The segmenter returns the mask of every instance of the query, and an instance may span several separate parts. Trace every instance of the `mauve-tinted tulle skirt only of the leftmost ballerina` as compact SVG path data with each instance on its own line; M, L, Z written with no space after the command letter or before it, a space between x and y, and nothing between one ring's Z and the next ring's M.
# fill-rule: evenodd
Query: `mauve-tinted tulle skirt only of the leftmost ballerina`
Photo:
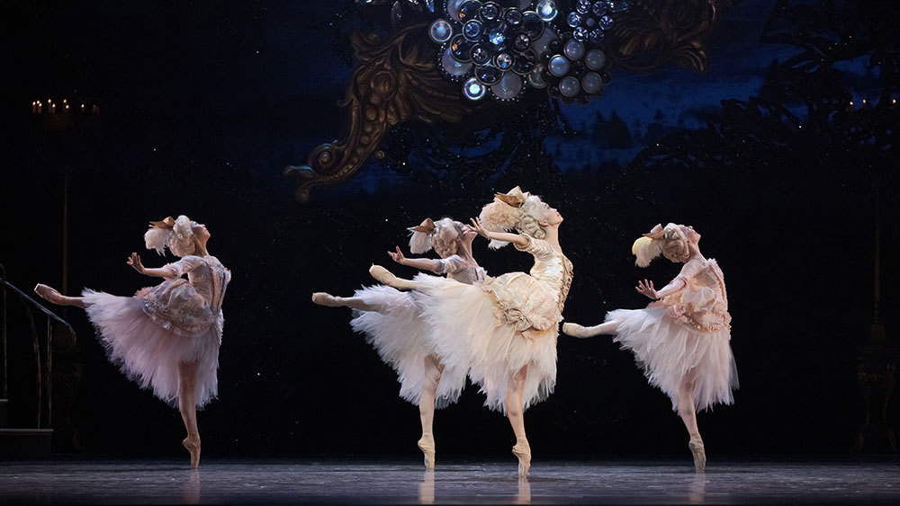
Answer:
M189 335L163 328L144 312L143 299L116 297L85 289L87 317L100 334L112 363L141 388L176 406L178 364L197 360L197 407L209 403L218 393L220 333L217 324Z

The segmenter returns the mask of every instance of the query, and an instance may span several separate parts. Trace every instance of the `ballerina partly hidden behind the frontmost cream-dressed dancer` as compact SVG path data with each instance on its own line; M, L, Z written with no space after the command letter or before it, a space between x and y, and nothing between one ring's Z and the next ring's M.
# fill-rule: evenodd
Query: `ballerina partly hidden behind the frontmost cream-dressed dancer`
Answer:
M426 219L410 228L410 251L426 253L434 248L440 260L407 258L400 247L388 252L394 262L422 271L444 274L446 278L419 274L422 283L478 283L484 270L472 255L472 242L478 235L469 226L445 217L437 222ZM397 371L400 396L419 406L422 437L419 448L425 455L425 466L435 466L433 424L435 408L453 404L465 386L466 369L446 367L444 360L428 341L428 324L410 293L386 286L356 290L353 297L334 297L325 292L312 294L312 302L321 306L353 308L350 325L365 333L384 362Z

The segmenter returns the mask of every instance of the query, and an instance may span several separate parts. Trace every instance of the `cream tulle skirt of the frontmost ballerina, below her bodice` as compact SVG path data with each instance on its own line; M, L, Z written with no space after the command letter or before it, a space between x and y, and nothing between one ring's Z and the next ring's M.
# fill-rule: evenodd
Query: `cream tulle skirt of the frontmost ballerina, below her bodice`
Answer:
M469 371L487 395L484 405L506 413L509 377L528 366L522 404L543 401L556 384L556 333L528 339L500 323L498 307L480 285L419 275L412 292L431 325L431 345L448 368Z

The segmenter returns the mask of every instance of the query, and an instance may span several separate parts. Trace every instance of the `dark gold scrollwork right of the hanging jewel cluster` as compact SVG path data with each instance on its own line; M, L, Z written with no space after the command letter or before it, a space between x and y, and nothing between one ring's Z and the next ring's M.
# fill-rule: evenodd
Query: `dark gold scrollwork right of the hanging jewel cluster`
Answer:
M709 59L703 37L716 21L721 0L635 0L617 14L607 47L617 65L646 71L672 61L706 70Z

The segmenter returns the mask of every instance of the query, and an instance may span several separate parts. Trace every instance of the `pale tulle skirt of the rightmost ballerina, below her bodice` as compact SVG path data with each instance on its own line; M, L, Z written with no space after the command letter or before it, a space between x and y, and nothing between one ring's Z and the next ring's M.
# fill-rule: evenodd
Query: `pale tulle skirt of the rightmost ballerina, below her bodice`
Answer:
M698 412L713 404L733 404L732 389L738 387L737 368L727 327L702 332L677 323L666 307L617 309L606 321L618 322L617 336L623 349L635 353L651 385L658 386L678 408L681 379L693 370L694 406Z

